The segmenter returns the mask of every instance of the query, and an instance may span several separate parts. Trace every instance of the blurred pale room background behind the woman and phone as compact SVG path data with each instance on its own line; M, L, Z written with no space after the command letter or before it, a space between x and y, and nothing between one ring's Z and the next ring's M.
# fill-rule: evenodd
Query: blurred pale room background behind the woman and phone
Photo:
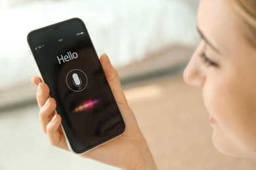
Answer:
M116 169L54 148L39 126L26 37L74 17L116 67L159 169L255 169L254 160L215 150L201 90L182 80L200 41L198 3L0 0L0 169Z

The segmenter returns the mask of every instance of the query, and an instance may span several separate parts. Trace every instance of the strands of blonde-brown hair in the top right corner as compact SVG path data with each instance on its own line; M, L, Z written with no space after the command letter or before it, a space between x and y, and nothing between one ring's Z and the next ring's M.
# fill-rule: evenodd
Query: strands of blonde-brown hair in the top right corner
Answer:
M229 0L234 12L242 18L245 24L245 36L256 48L256 1Z

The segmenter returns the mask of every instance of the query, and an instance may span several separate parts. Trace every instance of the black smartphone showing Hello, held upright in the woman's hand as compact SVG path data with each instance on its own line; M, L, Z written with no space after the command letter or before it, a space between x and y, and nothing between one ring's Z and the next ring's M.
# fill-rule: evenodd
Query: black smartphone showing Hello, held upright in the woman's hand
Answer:
M83 154L125 131L125 122L85 24L79 18L31 31L28 45L56 100L70 150Z

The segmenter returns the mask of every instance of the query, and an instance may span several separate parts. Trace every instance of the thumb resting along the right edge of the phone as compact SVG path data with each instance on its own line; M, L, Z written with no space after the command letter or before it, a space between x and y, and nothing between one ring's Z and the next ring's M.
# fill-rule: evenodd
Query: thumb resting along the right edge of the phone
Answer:
M102 68L104 70L106 78L108 79L110 88L112 89L112 92L114 93L114 96L116 97L117 103L127 104L127 100L126 100L123 90L121 88L121 83L120 83L117 71L111 65L110 59L108 58L108 56L106 54L102 54L102 56L100 56L100 63L102 65Z

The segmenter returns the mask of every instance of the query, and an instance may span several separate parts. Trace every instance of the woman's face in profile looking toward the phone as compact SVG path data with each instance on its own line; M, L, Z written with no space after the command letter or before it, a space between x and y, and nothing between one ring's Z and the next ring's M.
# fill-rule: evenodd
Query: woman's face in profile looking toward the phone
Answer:
M197 50L184 71L203 89L213 143L224 154L256 156L256 49L227 0L202 0Z

